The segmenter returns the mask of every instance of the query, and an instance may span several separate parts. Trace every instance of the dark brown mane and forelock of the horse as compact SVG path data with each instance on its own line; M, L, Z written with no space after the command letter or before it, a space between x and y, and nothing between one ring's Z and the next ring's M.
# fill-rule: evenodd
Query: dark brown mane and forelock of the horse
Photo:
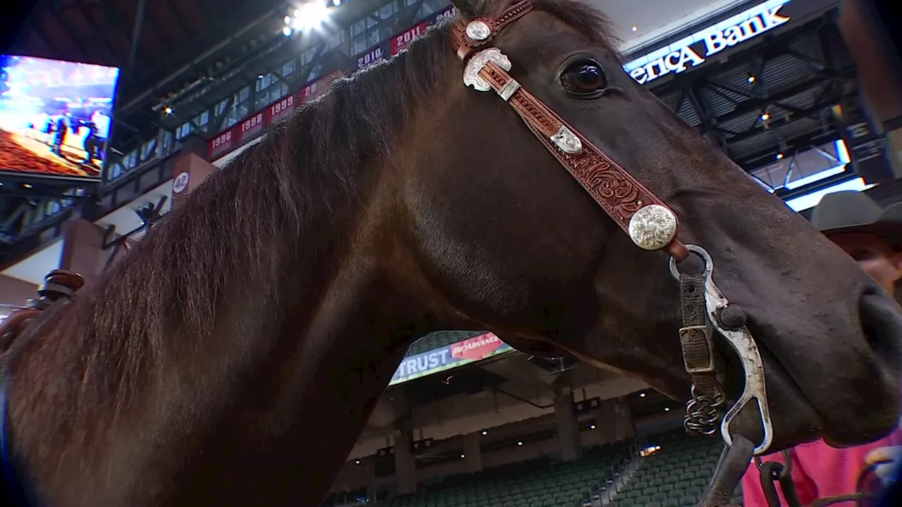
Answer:
M614 49L594 8L573 0L535 6ZM17 432L41 447L35 452L52 463L54 450L87 447L165 364L174 336L214 339L216 311L236 277L277 287L292 253L316 250L283 238L328 226L354 198L364 167L391 156L415 106L437 100L446 72L461 71L446 65L447 29L435 27L389 62L336 81L274 125L81 290L44 336L18 347L27 355L17 356L34 360L23 371L13 364L14 378L31 385L14 389L21 397L14 416L23 421Z

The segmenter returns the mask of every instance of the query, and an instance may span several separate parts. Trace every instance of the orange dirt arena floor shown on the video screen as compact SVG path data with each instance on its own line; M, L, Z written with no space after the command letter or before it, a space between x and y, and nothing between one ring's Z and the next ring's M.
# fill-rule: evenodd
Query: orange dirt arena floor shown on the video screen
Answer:
M77 136L69 135L67 142L63 144L62 153L65 158L61 158L51 152L50 146L38 139L0 130L0 171L59 176L99 176L99 169L78 163L85 159L87 153L69 145L73 141L80 141L80 138L72 139L73 137Z

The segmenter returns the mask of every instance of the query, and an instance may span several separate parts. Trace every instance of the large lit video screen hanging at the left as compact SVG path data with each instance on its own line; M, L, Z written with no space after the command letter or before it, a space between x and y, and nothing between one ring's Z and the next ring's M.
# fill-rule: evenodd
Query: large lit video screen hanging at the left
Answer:
M99 178L119 69L0 55L0 171Z

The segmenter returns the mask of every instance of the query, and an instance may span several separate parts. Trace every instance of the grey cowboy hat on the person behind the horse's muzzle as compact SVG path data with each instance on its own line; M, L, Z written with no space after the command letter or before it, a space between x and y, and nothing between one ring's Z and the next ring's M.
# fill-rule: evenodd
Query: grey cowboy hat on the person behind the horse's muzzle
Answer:
M883 208L859 191L833 192L812 210L811 224L824 235L870 233L902 248L902 202Z

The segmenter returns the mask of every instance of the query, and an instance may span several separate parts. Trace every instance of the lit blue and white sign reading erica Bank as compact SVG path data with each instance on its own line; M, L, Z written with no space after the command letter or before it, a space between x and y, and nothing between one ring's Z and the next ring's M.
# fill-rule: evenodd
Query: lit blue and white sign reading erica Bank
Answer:
M711 56L789 22L780 9L790 0L769 0L713 26L695 32L623 66L644 85L661 76L701 65Z

